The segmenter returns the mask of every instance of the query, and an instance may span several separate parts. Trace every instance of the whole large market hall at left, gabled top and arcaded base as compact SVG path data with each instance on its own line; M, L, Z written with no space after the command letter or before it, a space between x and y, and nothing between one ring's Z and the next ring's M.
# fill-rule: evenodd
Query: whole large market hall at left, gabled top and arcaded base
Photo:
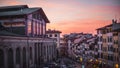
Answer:
M36 68L56 59L56 40L46 37L42 8L0 7L0 68Z

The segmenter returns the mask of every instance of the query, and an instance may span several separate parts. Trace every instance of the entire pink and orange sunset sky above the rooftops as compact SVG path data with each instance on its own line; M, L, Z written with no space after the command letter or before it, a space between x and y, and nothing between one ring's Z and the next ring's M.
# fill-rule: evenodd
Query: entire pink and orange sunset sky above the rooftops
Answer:
M0 6L42 7L51 23L47 29L96 33L96 29L120 21L120 0L0 0Z

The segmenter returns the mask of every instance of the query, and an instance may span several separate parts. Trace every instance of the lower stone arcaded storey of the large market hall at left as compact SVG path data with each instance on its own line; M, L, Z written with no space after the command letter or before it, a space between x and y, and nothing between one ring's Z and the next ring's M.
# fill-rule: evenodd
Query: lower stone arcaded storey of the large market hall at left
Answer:
M56 59L55 40L0 36L0 68L31 68Z

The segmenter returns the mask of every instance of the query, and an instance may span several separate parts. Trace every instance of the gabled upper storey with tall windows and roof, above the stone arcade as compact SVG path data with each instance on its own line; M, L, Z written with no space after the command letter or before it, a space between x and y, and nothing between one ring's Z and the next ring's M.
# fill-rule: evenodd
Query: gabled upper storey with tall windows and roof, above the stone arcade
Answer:
M0 24L7 31L32 37L46 34L49 23L42 8L29 8L27 5L0 7Z

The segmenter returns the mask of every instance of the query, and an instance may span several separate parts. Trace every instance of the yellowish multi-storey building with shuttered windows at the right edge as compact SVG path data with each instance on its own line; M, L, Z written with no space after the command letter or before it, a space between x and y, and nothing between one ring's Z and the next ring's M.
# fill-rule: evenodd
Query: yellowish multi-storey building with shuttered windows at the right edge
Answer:
M114 24L120 27L120 23L113 20L112 24L97 29L99 60L110 67L119 63L119 31L114 30Z

